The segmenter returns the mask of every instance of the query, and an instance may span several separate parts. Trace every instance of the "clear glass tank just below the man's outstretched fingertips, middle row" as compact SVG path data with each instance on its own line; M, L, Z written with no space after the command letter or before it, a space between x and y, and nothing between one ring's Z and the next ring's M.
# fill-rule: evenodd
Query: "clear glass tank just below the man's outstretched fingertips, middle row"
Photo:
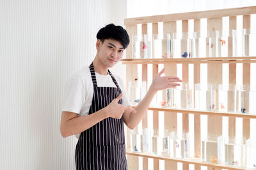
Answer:
M170 106L175 108L192 108L192 89L188 83L182 83L180 86L170 89Z

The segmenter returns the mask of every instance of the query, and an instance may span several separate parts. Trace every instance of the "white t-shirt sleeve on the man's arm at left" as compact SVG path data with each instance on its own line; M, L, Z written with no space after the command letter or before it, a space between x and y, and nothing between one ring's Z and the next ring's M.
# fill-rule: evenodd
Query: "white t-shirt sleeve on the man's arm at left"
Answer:
M80 78L70 78L64 90L61 111L70 111L79 114L84 103L84 86Z

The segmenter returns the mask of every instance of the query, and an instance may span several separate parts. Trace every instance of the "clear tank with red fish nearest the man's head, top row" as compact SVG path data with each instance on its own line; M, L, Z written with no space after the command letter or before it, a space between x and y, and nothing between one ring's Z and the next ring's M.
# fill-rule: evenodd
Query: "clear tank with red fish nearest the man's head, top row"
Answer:
M151 38L143 34L141 36L132 36L132 59L150 59L151 56Z

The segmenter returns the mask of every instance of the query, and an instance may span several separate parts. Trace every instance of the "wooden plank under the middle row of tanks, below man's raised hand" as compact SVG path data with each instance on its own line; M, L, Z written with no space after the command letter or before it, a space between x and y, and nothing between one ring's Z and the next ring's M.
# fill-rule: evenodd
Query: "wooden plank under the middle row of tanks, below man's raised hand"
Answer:
M135 108L136 106L132 106ZM247 113L235 113L235 112L223 112L223 111L207 111L207 110L195 110L195 109L180 109L180 108L159 108L159 107L149 107L148 110L153 111L170 111L172 113L193 113L198 115L215 115L220 117L241 117L241 118L256 118L256 114Z

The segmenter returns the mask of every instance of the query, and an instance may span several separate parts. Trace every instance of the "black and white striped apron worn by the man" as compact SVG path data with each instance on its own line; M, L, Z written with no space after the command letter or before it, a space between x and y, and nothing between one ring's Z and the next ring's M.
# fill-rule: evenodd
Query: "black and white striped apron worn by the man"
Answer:
M93 63L90 65L93 99L88 115L108 106L122 91L108 71L116 87L98 87ZM118 101L122 104L122 100ZM81 132L76 145L76 169L127 169L125 158L124 117L105 118Z

